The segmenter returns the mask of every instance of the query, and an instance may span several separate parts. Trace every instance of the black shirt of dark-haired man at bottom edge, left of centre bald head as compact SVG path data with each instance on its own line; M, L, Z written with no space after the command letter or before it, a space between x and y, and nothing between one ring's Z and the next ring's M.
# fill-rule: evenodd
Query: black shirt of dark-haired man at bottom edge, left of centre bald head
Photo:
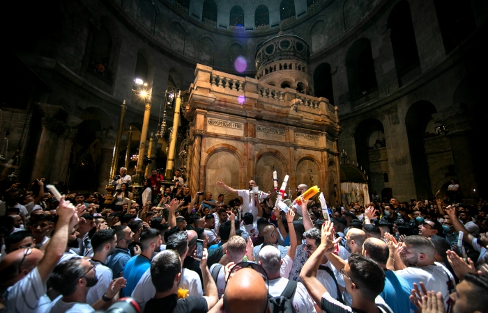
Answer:
M144 308L144 313L206 313L207 311L208 307L205 298L190 296L178 300L176 294L160 299L152 298L148 300Z

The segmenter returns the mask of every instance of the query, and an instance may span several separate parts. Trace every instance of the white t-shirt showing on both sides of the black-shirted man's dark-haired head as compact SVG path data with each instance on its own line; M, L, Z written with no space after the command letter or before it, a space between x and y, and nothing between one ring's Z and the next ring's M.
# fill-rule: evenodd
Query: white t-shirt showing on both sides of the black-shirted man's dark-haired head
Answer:
M195 271L191 271L188 268L183 268L178 287L188 289L188 296L204 296L204 291L201 288L200 276ZM156 288L151 280L151 268L148 268L146 273L142 275L137 283L134 291L132 291L132 298L139 303L141 312L144 312L146 303L148 300L151 300L155 294Z

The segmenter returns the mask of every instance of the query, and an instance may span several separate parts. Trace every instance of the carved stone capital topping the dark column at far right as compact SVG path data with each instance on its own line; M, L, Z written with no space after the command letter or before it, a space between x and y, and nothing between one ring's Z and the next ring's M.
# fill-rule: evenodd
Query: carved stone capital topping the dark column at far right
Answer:
M473 130L473 114L469 112L466 104L459 103L449 106L432 114L432 118L434 118L434 122L445 126L448 135Z

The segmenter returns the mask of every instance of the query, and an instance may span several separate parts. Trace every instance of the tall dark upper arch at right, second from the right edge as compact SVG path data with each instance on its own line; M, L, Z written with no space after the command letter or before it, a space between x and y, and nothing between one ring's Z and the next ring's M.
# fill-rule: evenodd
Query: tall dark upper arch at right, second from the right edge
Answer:
M391 30L391 45L398 84L402 86L421 72L410 6L406 0L395 5L388 17L387 26Z

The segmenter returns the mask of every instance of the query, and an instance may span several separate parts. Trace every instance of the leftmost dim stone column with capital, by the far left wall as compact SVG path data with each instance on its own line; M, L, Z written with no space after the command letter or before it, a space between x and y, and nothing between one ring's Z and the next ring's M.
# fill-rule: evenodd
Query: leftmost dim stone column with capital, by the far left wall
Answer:
M47 182L49 182L49 173L52 171L52 157L56 151L58 134L64 130L65 126L63 122L52 118L50 115L45 115L41 122L43 130L40 134L31 180L45 177Z

